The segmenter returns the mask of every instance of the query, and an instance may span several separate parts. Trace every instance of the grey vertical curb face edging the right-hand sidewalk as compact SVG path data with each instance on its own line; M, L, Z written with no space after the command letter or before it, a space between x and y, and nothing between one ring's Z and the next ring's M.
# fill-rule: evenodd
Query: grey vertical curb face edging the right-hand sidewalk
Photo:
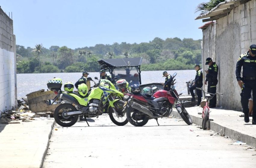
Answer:
M173 109L172 115L177 117L177 118L181 118L180 114ZM193 121L194 124L196 125L202 125L203 119L200 117L196 117L196 116L192 116L189 115ZM231 139L237 140L237 141L241 141L241 142L245 142L247 145L250 145L254 148L256 148L256 138L249 136L247 134L243 134L241 132L238 132L236 130L227 128L223 125L219 125L217 123L215 123L214 121L208 121L208 128L210 128L212 131L218 132L219 134L223 134L225 136L228 136Z

